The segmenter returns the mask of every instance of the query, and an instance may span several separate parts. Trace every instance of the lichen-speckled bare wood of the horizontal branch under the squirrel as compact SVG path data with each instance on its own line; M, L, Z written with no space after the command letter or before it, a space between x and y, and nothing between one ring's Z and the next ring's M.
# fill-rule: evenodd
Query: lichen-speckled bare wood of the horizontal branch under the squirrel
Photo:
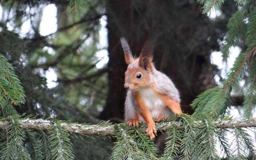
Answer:
M8 121L0 120L0 130L7 130L9 128ZM256 119L252 120L243 120L243 121L216 121L214 122L217 128L248 128L248 127L256 127ZM41 129L41 130L50 130L54 128L54 122L51 120L44 119L24 119L20 120L20 124L23 128L26 129ZM114 134L115 126L122 124L112 124L112 125L89 125L89 124L70 124L63 122L61 125L64 129L70 133L79 133L79 134L92 134L92 135L105 135L112 136ZM184 129L184 126L181 122L173 121L173 122L161 122L156 123L156 130L164 131L170 126L177 126L179 129ZM196 122L196 125L199 126L200 123ZM142 130L146 131L146 127L143 127Z

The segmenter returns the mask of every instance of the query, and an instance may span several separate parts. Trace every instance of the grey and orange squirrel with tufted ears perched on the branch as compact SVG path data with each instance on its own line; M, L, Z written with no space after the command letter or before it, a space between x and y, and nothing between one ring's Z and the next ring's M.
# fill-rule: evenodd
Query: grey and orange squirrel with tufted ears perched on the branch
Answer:
M168 76L154 67L154 47L151 42L147 41L140 56L134 58L127 40L120 38L120 41L128 64L124 78L124 88L128 90L124 105L125 122L129 126L146 122L146 133L150 139L154 139L155 122L168 118L171 112L182 113L178 89Z

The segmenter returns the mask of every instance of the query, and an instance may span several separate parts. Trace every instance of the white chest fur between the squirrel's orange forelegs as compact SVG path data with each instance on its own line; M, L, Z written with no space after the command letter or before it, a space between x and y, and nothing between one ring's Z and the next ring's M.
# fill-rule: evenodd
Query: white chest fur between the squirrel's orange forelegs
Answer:
M139 92L150 112L155 112L155 110L160 111L166 107L162 99L159 98L151 88L141 89Z

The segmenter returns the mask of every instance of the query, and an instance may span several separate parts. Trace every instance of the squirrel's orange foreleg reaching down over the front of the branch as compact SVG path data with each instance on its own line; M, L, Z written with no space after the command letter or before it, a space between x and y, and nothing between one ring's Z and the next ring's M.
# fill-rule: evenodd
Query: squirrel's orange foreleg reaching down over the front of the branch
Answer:
M146 133L150 136L150 139L154 139L155 138L154 134L156 134L156 126L155 126L155 122L151 117L150 110L148 110L148 107L146 106L145 101L140 96L140 93L138 91L135 92L135 99L138 103L138 107L140 108L140 115L145 120L148 126Z

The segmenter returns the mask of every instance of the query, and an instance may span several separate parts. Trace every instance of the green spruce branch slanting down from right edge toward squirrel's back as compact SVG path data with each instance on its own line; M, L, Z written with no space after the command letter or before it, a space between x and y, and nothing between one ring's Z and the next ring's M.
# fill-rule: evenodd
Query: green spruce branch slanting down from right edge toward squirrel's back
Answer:
M216 86L206 90L194 99L191 104L192 108L195 109L194 114L222 114L226 108L230 89L234 84L238 84L241 79L240 75L242 71L246 69L246 62L248 62L248 59L253 57L255 53L256 47L250 45L245 53L240 54L236 58L234 66L230 69L228 77L223 82L223 86Z

